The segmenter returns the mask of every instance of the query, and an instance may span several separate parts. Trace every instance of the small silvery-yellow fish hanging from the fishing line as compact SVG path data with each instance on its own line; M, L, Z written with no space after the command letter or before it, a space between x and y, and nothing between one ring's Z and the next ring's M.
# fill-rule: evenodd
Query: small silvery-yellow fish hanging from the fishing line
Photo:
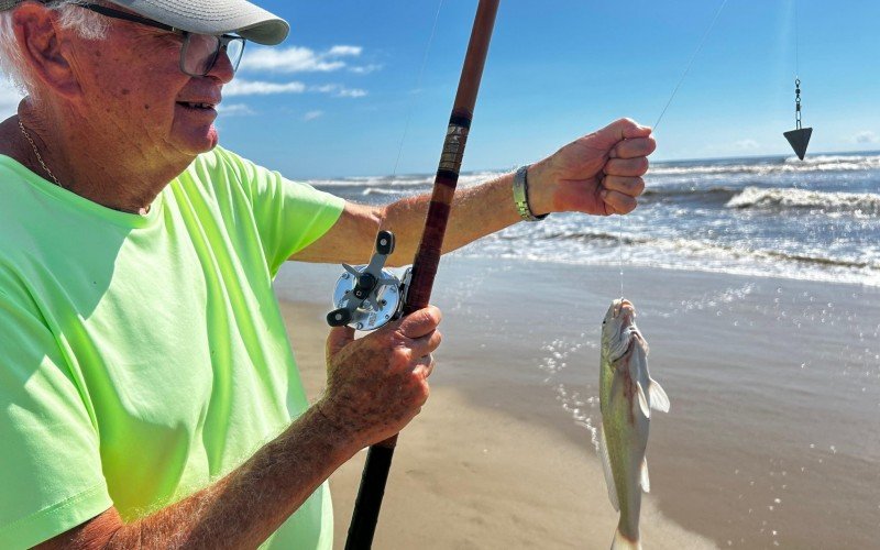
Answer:
M648 342L636 327L636 308L616 299L602 321L600 457L608 498L620 513L612 550L640 549L641 492L650 492L648 428L651 409L669 413L669 397L648 374Z

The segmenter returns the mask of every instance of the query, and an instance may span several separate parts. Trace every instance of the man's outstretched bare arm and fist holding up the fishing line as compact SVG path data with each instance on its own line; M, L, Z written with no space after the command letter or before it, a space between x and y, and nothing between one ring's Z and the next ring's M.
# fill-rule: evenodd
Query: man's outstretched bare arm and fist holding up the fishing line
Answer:
M585 135L528 172L529 204L536 215L580 211L608 216L628 213L645 189L641 176L654 150L649 128L622 119ZM513 199L513 174L458 189L452 202L443 252L451 252L521 220ZM385 207L349 202L324 237L290 260L365 263L376 232L395 233L391 265L411 263L421 238L430 195L405 198Z

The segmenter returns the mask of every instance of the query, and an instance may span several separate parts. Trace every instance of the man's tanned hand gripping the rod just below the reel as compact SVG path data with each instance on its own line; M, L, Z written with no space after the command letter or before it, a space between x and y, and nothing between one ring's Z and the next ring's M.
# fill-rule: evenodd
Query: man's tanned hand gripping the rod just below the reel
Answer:
M429 306L360 340L349 327L331 329L319 410L364 447L399 432L428 399L440 319Z

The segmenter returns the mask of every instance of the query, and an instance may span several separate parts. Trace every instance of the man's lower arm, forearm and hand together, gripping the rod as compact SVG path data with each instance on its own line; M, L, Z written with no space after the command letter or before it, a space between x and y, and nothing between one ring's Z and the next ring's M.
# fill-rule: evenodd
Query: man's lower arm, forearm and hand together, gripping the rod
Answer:
M328 339L324 396L222 480L131 524L116 508L40 549L256 548L355 452L399 432L428 398L440 311Z

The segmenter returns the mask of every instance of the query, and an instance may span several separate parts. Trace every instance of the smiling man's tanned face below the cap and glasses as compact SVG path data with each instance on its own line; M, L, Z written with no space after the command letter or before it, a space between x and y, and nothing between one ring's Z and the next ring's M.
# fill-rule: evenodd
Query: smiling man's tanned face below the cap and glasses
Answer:
M96 130L150 162L193 157L218 142L216 107L232 67L221 54L208 75L184 74L183 41L179 34L125 21L112 21L103 41L69 41L82 91L78 108Z

